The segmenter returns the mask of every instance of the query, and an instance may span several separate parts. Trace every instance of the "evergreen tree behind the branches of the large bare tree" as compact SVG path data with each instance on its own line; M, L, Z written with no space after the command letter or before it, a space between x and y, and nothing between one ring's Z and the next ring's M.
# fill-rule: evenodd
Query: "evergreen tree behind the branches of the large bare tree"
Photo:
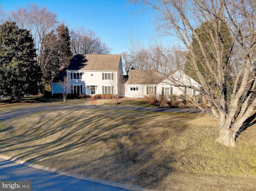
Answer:
M206 55L203 55L202 51L200 50L200 45L198 43L198 40L196 37L192 36L192 49L193 53L196 54L196 63L197 67L206 79L206 83L212 87L212 89L216 89L215 96L219 96L220 92L218 92L217 88L217 83L215 80L214 75L212 74L212 71L215 70L218 66L217 63L218 61L216 60L216 47L211 42L211 37L218 37L222 39L222 44L223 44L223 54L222 54L222 67L225 68L224 71L224 79L225 83L227 84L224 91L226 98L230 98L230 91L232 89L232 65L230 64L230 53L232 52L233 49L233 39L230 35L230 31L227 27L227 25L222 22L220 25L219 30L209 30L212 29L213 26L209 22L205 22L202 24L199 28L196 29L196 33L198 33L198 36L200 38L200 41L203 42L204 48L206 49ZM194 80L197 82L200 82L198 79L198 76L196 75L195 68L190 64L190 61L192 59L191 52L188 52L188 62L185 64L185 72L188 74L190 77L192 77ZM211 63L211 67L208 67L204 60L208 59L208 61Z

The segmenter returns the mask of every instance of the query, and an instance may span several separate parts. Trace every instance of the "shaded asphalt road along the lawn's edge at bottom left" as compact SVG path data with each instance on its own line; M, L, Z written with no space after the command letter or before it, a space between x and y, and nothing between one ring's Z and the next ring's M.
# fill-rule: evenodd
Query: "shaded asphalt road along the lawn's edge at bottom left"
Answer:
M0 157L0 180L31 181L32 191L150 191L64 171L58 172L50 168L42 170L19 163L20 161L12 162Z

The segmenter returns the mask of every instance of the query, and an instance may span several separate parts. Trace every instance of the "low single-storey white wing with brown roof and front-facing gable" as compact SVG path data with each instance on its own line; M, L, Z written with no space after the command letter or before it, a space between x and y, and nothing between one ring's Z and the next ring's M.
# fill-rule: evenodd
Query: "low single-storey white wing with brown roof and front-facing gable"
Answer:
M175 71L168 78L159 76L152 70L130 70L129 79L125 85L125 96L145 97L156 95L159 99L161 95L167 98L170 95L188 96L198 95L200 84L181 71Z

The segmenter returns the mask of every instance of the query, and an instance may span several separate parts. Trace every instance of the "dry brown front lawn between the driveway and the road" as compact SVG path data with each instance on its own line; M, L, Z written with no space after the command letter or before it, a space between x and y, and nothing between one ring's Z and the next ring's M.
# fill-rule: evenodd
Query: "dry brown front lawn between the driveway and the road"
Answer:
M214 142L216 126L198 114L39 112L0 122L0 153L154 190L255 190L255 130L229 149Z

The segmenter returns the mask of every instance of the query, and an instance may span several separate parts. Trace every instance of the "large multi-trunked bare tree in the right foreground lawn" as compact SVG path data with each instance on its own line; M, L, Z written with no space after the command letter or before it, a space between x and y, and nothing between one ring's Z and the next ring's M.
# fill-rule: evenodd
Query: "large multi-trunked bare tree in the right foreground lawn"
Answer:
M177 37L189 51L188 62L202 86L201 94L208 100L212 116L219 122L219 136L216 142L229 147L236 146L236 136L241 128L250 125L256 107L255 0L130 2L140 5L141 10L151 9L156 13L159 32L162 35ZM233 39L233 46L228 53L224 44L226 34L221 32L223 23ZM202 38L198 33L199 27L203 27L207 44L206 37ZM199 49L193 48L193 38L196 39ZM200 51L202 56L198 57L196 51ZM202 73L198 62L206 73ZM227 83L225 78L230 73L233 74L232 84ZM229 100L227 89L230 89L231 93Z

